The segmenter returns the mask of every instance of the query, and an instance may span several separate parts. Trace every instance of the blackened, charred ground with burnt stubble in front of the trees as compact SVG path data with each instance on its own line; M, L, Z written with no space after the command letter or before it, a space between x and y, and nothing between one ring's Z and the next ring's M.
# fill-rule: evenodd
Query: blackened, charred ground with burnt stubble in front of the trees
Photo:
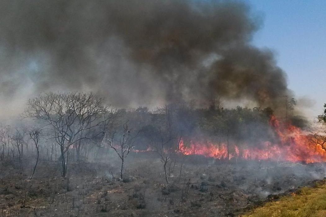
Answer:
M127 157L123 181L110 161L70 163L68 177L61 178L57 162L41 160L33 180L28 180L32 163L23 164L22 172L19 162L2 162L0 216L238 216L325 176L320 163L189 156L181 180L179 165L172 164L166 185L162 163L145 155Z

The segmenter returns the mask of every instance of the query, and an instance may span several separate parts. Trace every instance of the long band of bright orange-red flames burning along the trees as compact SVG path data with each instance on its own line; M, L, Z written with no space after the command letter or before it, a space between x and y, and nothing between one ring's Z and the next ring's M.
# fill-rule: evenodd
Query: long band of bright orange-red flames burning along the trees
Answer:
M185 145L181 140L179 151L184 155L203 155L217 159L229 159L236 157L242 159L258 160L285 160L293 162L324 162L326 152L321 145L312 141L311 135L291 124L281 124L275 116L270 119L278 142L262 142L258 147L250 147L248 144L213 143L210 141L190 141Z

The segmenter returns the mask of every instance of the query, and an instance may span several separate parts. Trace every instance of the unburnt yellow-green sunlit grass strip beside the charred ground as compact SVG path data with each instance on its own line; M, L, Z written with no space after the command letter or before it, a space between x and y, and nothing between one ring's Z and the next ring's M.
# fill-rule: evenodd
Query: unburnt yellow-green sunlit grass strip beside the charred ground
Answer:
M243 215L246 217L326 216L326 184L303 187L275 202L268 202Z

